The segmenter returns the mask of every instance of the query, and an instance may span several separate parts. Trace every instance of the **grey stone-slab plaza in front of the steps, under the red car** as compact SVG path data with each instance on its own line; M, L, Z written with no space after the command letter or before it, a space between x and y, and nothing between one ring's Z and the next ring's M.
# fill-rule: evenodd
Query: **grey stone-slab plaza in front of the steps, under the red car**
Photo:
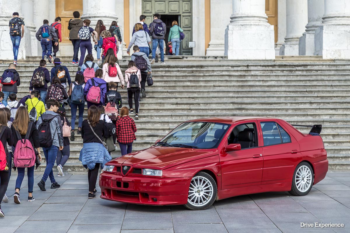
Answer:
M350 232L350 173L328 172L307 196L269 192L238 196L215 202L208 210L191 211L183 206L142 206L87 198L87 174L57 177L61 188L42 192L27 201L23 180L21 204L13 202L16 172L7 191L9 203L1 207L3 233L121 232L121 233L294 233ZM97 187L100 195L100 189ZM344 228L301 228L300 223L339 223Z

